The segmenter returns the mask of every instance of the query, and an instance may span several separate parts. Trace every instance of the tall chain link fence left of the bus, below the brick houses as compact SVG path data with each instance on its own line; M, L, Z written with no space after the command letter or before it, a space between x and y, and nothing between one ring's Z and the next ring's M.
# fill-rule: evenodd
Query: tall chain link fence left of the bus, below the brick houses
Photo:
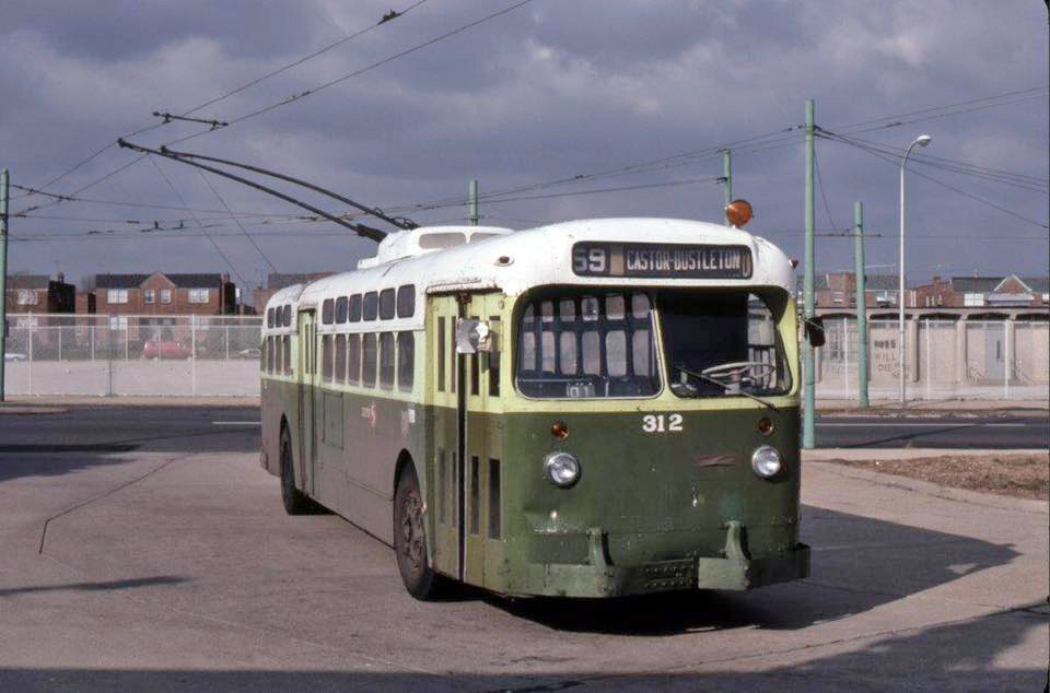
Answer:
M257 396L258 316L9 315L9 395Z

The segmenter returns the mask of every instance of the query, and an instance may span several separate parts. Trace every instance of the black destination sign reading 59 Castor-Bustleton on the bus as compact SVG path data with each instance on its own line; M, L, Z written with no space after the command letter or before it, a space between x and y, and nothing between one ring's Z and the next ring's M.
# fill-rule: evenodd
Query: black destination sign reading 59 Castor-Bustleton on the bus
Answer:
M572 246L578 277L648 279L750 279L747 246L677 243L593 243Z

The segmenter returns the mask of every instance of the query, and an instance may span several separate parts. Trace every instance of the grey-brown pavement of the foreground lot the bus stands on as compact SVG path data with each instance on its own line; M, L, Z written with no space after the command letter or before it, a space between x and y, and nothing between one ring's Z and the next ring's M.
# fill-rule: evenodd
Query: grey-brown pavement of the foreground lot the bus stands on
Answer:
M254 454L0 453L0 691L1042 690L1045 504L819 462L802 502L804 580L418 602Z

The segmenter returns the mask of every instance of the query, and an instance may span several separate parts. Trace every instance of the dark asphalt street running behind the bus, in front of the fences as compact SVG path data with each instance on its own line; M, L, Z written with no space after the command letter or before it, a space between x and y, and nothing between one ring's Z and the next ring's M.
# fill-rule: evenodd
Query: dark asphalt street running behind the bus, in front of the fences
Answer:
M250 453L254 407L73 406L0 415L0 453ZM818 416L817 447L1046 448L1046 418Z

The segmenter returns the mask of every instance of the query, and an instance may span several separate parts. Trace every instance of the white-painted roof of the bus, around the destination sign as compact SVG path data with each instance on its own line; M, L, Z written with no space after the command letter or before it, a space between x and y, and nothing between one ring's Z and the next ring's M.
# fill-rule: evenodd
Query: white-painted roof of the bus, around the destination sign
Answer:
M457 233L463 234L463 240L453 247L427 243L428 236L440 234L444 242ZM471 238L471 233L478 237ZM572 248L580 242L745 246L750 250L752 268L747 279L580 277L572 268ZM681 219L588 219L513 233L499 227L429 226L390 234L383 243L396 250L390 252L395 259L383 261L381 248L376 258L362 260L358 270L318 279L305 286L289 286L275 294L267 305L300 303L319 307L328 297L406 284L415 285L419 297L476 290L516 295L545 284L779 286L792 291L791 262L777 246L735 227Z

